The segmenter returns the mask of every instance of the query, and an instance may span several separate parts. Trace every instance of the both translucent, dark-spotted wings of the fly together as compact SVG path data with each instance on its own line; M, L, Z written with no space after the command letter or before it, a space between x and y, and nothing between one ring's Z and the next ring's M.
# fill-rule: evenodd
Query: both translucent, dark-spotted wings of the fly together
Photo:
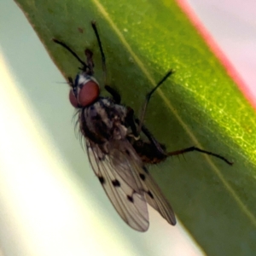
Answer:
M154 179L127 140L108 142L108 154L88 140L90 164L116 211L131 228L148 230L147 203L175 225L175 214Z

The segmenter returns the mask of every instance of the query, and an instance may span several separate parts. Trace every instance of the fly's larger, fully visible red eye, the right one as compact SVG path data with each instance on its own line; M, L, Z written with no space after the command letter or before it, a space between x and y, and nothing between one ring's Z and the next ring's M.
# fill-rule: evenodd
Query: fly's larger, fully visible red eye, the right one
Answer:
M79 91L78 103L81 107L86 107L95 102L100 95L99 85L95 81L88 81ZM71 102L72 103L72 102ZM72 103L73 104L73 103Z

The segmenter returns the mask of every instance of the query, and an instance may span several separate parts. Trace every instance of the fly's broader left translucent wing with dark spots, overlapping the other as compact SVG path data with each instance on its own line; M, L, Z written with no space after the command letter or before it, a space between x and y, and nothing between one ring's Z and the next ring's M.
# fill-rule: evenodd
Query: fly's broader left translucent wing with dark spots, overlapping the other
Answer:
M108 143L108 154L104 154L96 143L86 140L90 164L120 217L131 228L146 231L149 225L148 207L143 185L137 177L140 166L119 150L121 142ZM130 143L123 148L133 150Z

